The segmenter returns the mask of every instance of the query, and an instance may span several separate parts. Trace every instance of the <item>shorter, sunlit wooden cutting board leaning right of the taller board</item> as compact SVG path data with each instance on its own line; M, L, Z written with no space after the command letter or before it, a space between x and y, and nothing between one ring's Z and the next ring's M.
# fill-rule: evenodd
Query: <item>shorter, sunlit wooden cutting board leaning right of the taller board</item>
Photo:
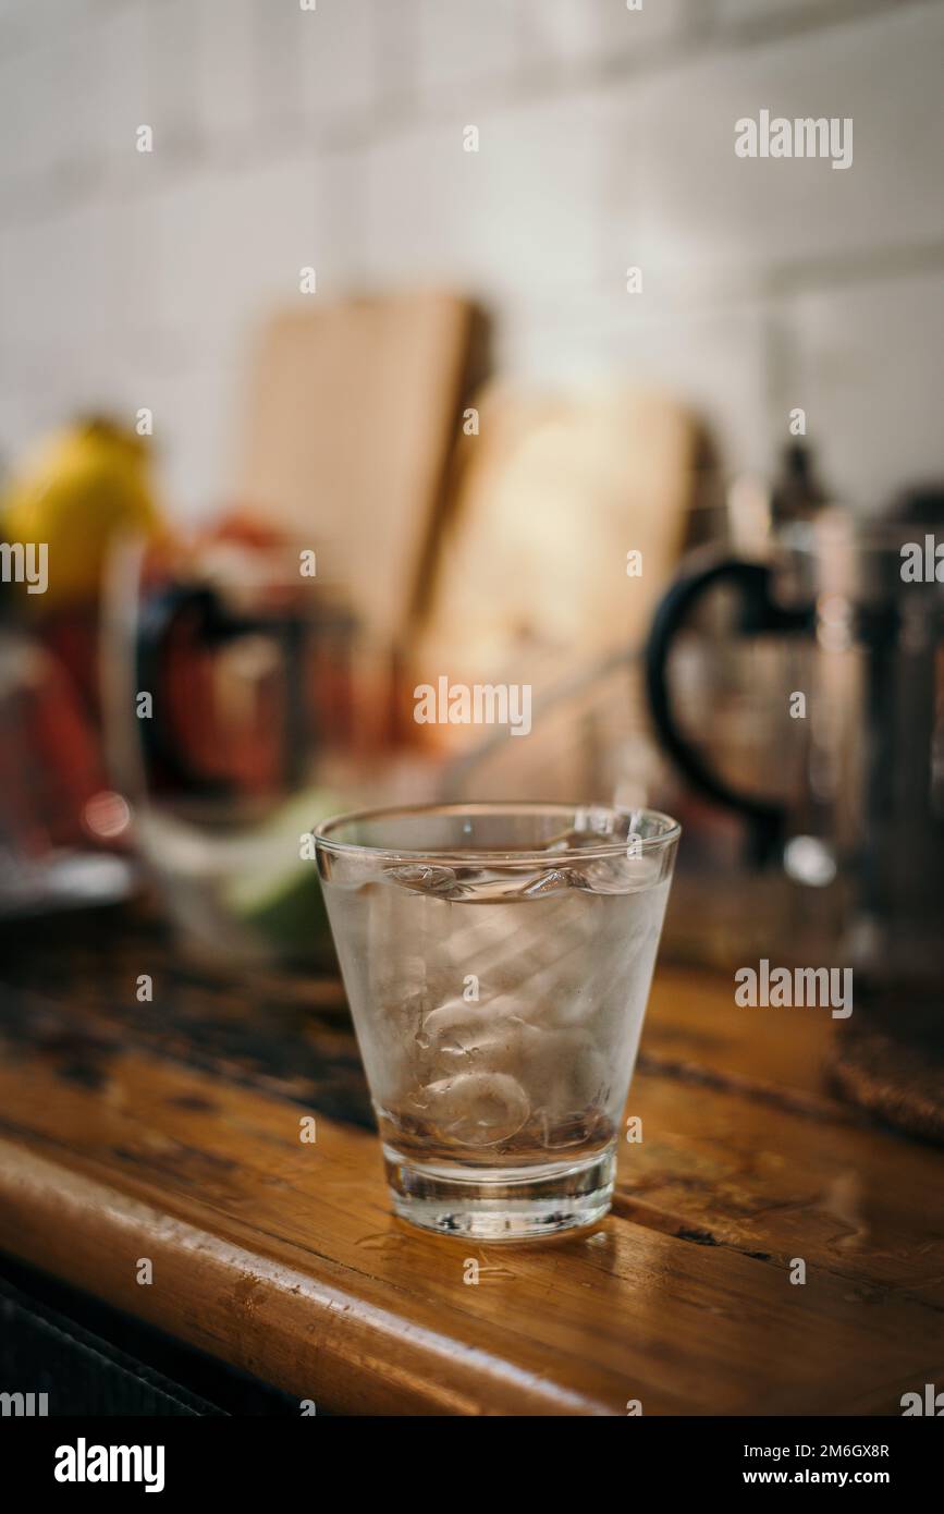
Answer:
M549 398L496 386L480 413L480 435L461 441L418 680L540 683L641 643L684 540L694 419L622 388Z

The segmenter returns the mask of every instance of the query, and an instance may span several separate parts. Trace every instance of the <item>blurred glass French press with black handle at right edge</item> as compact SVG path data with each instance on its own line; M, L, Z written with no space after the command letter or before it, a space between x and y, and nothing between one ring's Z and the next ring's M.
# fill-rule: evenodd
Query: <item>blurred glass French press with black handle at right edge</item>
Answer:
M765 560L713 551L661 600L646 666L679 774L746 821L756 860L797 884L849 878L840 952L897 993L944 977L944 583L933 562L918 581L905 568L924 539L914 519L856 522L828 507L788 521ZM722 772L703 731L679 718L670 662L714 589L734 597L738 636L782 650L765 662L755 725L761 783L790 769L787 792L762 792L756 763L750 784Z

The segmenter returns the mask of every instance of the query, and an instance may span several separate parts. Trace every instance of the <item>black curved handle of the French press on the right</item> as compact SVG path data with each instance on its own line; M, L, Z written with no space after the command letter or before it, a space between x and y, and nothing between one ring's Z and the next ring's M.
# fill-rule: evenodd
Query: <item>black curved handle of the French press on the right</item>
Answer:
M675 637L682 630L694 604L708 589L729 583L740 593L738 630L744 636L797 634L809 631L812 609L784 609L772 598L772 569L767 563L722 557L682 574L663 597L652 621L646 645L646 693L658 737L679 772L705 798L744 816L750 825L752 851L756 861L767 861L784 842L787 812L775 799L759 799L738 793L713 768L703 754L682 734L675 719L666 671Z

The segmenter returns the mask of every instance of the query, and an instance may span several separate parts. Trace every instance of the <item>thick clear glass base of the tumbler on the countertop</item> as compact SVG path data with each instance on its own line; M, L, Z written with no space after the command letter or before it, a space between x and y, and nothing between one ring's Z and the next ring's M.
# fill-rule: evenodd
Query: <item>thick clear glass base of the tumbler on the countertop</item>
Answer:
M522 1241L596 1225L610 1208L616 1142L581 1161L455 1169L384 1145L393 1208L440 1235Z

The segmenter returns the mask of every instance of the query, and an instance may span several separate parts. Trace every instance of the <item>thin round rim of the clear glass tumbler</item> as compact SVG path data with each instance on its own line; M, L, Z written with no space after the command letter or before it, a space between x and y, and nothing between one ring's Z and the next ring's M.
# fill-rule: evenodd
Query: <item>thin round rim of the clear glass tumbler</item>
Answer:
M342 842L334 840L330 831L340 825L356 824L359 821L380 821L393 819L396 816L407 815L457 815L457 816L475 816L475 815L495 815L495 813L517 813L517 815L546 815L560 812L561 816L570 815L578 816L587 812L605 812L608 816L625 816L628 819L638 818L647 821L658 821L664 825L664 830L658 836L638 836L631 831L629 836L620 840L601 840L599 845L590 846L564 846L558 851L549 852L545 849L525 849L525 848L499 848L499 846L371 846L366 842ZM318 825L312 828L310 833L315 837L316 849L331 852L333 855L348 855L348 857L383 857L392 861L428 861L428 863L478 863L483 861L492 864L514 866L517 863L536 863L543 861L551 866L558 866L561 861L592 861L602 857L625 857L626 848L631 843L631 837L635 837L632 845L634 849L638 848L643 852L661 851L670 846L682 834L682 827L670 815L663 810L649 810L643 805L631 808L623 804L563 804L560 801L540 799L470 799L463 801L443 801L443 802L428 802L428 804L390 804L380 805L369 810L349 810L343 815L331 815Z

